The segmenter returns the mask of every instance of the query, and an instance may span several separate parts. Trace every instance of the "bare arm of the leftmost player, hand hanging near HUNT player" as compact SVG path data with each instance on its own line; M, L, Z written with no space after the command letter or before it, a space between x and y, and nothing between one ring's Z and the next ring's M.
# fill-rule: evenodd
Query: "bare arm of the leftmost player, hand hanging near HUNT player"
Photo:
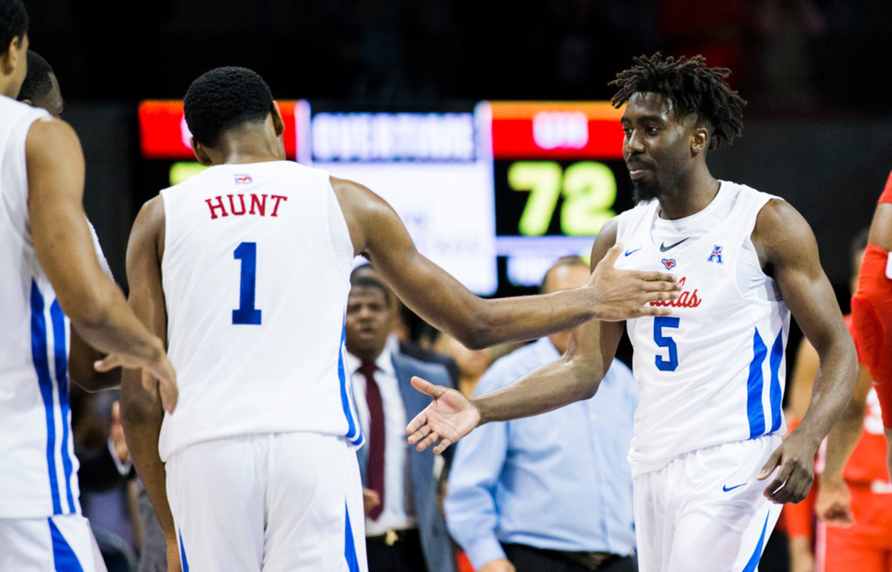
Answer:
M26 156L34 249L59 306L84 341L111 354L97 369L145 368L161 380L172 411L176 376L161 340L136 319L96 258L81 204L84 157L78 135L60 119L37 120L29 129Z

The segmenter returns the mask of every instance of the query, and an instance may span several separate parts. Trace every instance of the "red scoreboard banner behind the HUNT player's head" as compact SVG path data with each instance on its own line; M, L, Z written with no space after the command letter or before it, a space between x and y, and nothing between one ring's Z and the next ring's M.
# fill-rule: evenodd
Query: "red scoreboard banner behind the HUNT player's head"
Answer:
M285 128L294 128L297 102L278 102ZM189 127L183 115L183 102L177 100L145 101L139 104L139 150L145 159L195 160L189 145ZM285 136L285 153L296 157L297 139Z

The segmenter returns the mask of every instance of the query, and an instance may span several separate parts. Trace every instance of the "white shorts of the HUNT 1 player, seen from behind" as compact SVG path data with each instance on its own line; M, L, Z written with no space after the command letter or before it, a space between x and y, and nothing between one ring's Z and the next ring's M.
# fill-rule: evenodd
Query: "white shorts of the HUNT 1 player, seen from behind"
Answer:
M341 437L266 433L167 462L183 571L366 572L362 485Z

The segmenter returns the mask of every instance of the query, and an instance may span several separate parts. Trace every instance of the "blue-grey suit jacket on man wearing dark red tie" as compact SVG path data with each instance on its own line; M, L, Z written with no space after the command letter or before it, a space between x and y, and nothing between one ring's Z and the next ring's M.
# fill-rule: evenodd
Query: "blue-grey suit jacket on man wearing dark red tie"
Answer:
M392 354L393 370L400 384L402 404L406 408L406 421L410 421L431 402L431 398L412 387L413 375L424 378L435 385L450 387L450 375L441 364L425 364L413 357ZM362 474L362 486L366 486L368 464L368 446L359 449L359 470ZM429 572L455 572L455 557L452 542L446 530L446 522L437 502L437 483L434 479L433 447L418 453L414 447L406 452L409 462L409 474L412 478L412 492L415 500L415 517L418 533L421 536L421 548L425 553L425 562Z

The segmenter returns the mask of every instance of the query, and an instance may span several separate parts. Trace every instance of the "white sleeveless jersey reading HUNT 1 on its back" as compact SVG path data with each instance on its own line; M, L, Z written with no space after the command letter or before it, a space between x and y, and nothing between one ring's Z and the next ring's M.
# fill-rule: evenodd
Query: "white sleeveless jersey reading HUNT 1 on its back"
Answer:
M177 411L159 450L220 437L361 435L343 366L353 245L324 171L208 168L161 192Z

